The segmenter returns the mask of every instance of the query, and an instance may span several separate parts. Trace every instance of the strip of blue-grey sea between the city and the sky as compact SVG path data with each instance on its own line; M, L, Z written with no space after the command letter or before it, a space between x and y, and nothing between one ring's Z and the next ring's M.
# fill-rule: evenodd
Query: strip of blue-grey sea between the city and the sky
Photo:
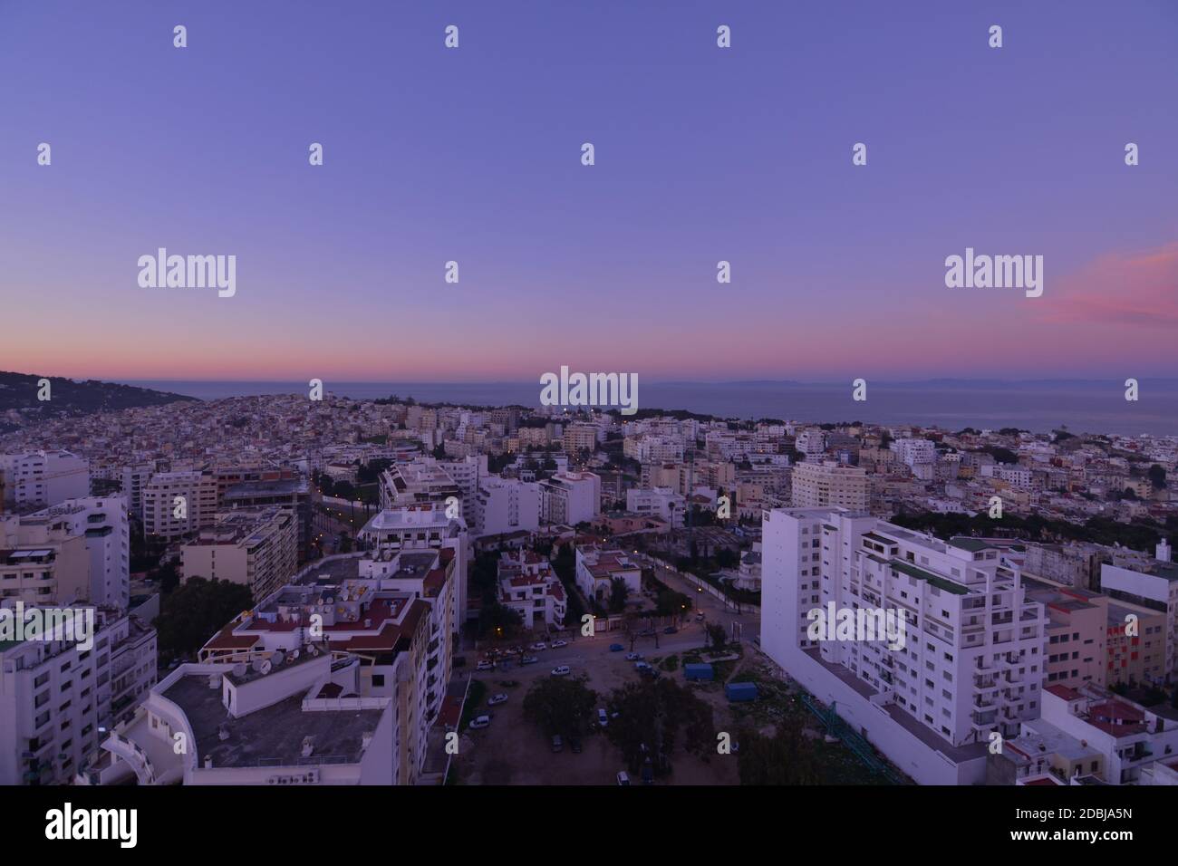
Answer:
M200 399L306 394L302 382L120 379L121 384ZM1125 399L1124 381L931 379L867 383L867 399L852 399L851 383L655 382L638 388L640 409L686 409L736 418L783 418L803 423L862 421L960 430L1014 427L1050 432L1178 435L1178 379L1139 379L1140 397ZM537 383L331 382L337 397L376 399L396 395L423 403L540 406Z

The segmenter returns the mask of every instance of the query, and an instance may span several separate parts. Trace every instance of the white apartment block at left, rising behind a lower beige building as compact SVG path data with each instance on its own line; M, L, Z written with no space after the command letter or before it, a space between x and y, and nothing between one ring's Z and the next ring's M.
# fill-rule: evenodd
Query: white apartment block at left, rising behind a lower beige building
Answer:
M120 496L87 496L44 509L21 520L25 527L64 527L86 540L90 553L91 604L126 610L131 604L131 523L126 500ZM4 584L0 581L0 589Z

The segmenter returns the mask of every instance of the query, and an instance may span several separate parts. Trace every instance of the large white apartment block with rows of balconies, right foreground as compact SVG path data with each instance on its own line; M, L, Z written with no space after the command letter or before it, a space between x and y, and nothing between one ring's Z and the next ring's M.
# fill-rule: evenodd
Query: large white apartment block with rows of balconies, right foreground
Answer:
M1040 712L1047 617L998 549L843 509L765 514L761 646L921 784L985 775L993 732ZM815 610L892 612L905 639L809 639Z

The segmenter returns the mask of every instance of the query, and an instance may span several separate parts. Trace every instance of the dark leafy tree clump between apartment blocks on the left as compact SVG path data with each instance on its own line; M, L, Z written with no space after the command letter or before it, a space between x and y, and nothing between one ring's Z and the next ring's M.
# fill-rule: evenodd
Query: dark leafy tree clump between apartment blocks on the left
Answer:
M194 654L243 610L253 606L250 588L230 581L188 577L164 596L155 617L161 657Z

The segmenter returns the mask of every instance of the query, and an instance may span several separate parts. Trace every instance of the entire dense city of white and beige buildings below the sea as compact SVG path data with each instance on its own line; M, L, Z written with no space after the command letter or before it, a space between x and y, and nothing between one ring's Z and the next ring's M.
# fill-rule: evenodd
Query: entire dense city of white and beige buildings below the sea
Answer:
M313 390L8 410L0 784L1178 781L1178 436Z

